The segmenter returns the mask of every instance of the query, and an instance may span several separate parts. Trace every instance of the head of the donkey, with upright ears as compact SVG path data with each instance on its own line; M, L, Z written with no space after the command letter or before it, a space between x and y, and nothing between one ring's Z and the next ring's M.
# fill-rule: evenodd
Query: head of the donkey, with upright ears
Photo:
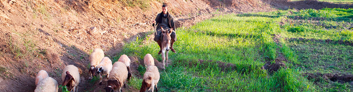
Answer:
M170 28L170 30L164 30L162 27L162 33L163 33L163 38L162 38L162 48L166 48L167 51L169 51L170 47L170 40L172 40L172 37L170 37L170 34L173 32L173 27Z

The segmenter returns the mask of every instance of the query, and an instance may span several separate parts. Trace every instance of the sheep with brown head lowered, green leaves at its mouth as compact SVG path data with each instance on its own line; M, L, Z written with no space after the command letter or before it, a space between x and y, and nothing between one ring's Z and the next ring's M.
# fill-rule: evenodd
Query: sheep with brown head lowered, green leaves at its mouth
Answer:
M80 73L78 72L78 68L76 66L65 66L65 68L62 69L61 79L62 85L65 85L68 91L78 91L77 86L80 83Z

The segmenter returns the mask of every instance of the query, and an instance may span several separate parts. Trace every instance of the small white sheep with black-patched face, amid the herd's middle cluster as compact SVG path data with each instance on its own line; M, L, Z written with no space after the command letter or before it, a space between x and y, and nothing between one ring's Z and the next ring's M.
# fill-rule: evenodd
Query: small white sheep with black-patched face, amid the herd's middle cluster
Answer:
M113 64L112 60L108 57L104 57L96 67L97 73L99 74L99 85L102 85L103 75L107 75L107 79L109 78L109 72L112 70Z

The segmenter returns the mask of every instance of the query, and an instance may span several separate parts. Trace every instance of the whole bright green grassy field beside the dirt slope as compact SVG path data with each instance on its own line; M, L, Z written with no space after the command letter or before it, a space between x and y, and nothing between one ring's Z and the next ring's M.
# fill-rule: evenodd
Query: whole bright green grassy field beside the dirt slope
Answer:
M177 54L169 53L173 62L160 70L158 83L162 92L350 92L352 84L308 80L303 73L353 73L353 47L315 41L293 41L289 38L353 41L353 9L277 10L250 14L228 14L199 22L190 28L178 28ZM302 17L295 19L295 16ZM323 17L313 19L312 17ZM149 34L152 34L149 33ZM280 35L277 44L272 34ZM148 36L127 43L120 55L138 59L150 53L157 55L158 45ZM287 68L272 74L261 69L274 63L279 54L288 61ZM199 59L212 60L200 63ZM217 61L232 63L222 68ZM143 75L145 69L139 66ZM142 79L128 83L139 90Z

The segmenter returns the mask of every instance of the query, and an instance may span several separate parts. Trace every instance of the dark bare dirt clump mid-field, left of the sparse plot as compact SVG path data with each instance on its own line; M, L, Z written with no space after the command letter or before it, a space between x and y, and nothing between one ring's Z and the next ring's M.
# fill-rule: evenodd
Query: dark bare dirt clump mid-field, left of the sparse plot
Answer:
M262 69L267 70L270 74L276 72L282 68L287 68L286 64L282 61L288 62L288 60L283 56L283 54L279 54L275 59L275 63L271 64L270 61L267 61L265 65L263 65Z

